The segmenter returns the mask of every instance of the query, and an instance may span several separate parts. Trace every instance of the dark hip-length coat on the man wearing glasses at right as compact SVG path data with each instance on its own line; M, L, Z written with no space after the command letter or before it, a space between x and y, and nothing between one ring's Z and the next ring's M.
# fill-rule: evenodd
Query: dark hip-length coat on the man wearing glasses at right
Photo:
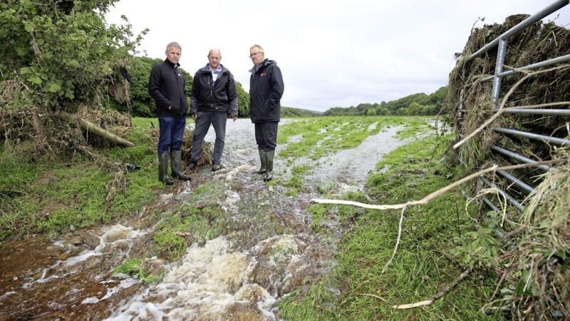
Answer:
M279 121L281 113L281 96L284 84L281 69L275 61L265 59L261 67L250 70L249 77L249 117L252 123Z

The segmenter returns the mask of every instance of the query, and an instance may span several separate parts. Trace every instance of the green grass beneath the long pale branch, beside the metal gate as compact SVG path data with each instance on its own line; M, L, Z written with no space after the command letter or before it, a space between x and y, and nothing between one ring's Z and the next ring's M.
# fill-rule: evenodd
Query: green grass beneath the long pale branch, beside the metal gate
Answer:
M409 143L385 156L369 175L366 193L373 203L403 203L423 198L462 173L442 161L446 138ZM343 198L362 198L344 195ZM362 201L362 200L361 200ZM371 201L363 201L371 203ZM353 228L338 245L338 267L309 289L299 289L280 304L286 320L502 320L480 308L490 300L497 278L473 272L432 305L395 310L390 305L413 303L435 295L465 269L451 254L457 237L472 231L465 198L457 190L432 203L408 208L395 259L400 210L354 210L338 205L312 205L314 231L328 220L351 220ZM467 209L476 215L477 208ZM342 217L340 215L343 215ZM386 300L380 300L376 295Z

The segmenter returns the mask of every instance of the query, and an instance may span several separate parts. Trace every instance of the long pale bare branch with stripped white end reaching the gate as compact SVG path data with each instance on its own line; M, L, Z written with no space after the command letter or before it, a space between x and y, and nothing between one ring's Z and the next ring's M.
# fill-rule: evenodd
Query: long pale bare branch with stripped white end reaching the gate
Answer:
M443 194L447 193L447 191L452 190L453 188L456 188L457 186L462 185L463 183L467 183L468 181L472 180L473 178L477 178L480 175L484 175L484 174L487 174L490 172L496 172L497 170L514 170L514 169L527 168L527 167L532 167L532 166L537 166L537 165L549 165L549 164L554 164L554 163L563 163L566 161L570 161L570 158L558 158L558 159L553 159L550 161L539 161L539 162L532 162L532 163L525 163L525 164L518 164L518 165L509 165L509 166L502 166L502 167L499 167L498 165L492 165L489 168L485 168L484 170L480 170L477 173L473 173L471 175L465 176L465 178L457 180L455 183L451 183L450 185L447 185L443 188L440 188L439 190L436 190L435 192L431 193L430 195L427 195L425 198L422 198L421 200L412 200L412 201L409 201L409 202L403 203L403 204L371 205L371 204L366 204L366 203L355 202L353 200L327 200L327 199L321 199L321 198L313 198L312 201L315 203L322 203L322 204L354 205L354 206L358 206L360 208L370 208L372 210L395 210L395 209L404 208L405 206L408 206L408 205L427 204L430 202L430 200L437 198L437 196L443 195Z

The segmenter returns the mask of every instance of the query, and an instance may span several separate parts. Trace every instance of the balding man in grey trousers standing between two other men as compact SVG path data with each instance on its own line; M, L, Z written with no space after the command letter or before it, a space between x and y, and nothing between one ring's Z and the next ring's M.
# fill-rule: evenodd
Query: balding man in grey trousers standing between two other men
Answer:
M237 93L234 76L220 61L222 54L218 49L208 53L208 61L204 68L196 71L192 82L192 97L190 98L190 115L196 122L192 138L192 155L188 169L196 168L202 156L202 141L208 132L210 124L216 131L212 170L219 170L219 163L224 152L226 137L227 115L234 121L237 119Z

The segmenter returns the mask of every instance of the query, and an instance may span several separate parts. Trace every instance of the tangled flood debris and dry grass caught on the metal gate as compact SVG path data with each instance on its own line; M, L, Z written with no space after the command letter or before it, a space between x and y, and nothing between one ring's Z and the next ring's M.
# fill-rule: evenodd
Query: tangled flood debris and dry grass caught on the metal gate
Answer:
M510 16L504 24L486 25L475 29L467 41L460 60L450 75L447 95L447 118L455 124L458 140L480 127L497 113L491 98L491 81L482 81L495 69L497 51L467 62L467 57L484 44L526 19L525 15ZM520 68L549 58L569 53L570 31L554 22L541 21L527 27L508 40L506 69ZM524 78L526 77L526 78ZM509 92L509 95L507 95ZM569 108L570 66L555 66L544 71L529 71L502 78L501 99L504 107L541 106ZM564 104L564 102L566 102ZM562 103L549 106L550 103ZM465 109L465 113L460 111ZM537 116L503 113L476 136L457 149L455 159L467 170L476 171L489 163L504 165L512 160L489 150L498 146L537 160L563 161L554 170L523 168L513 175L524 183L537 186L528 194L502 178L492 180L514 198L524 211L513 207L490 210L475 218L477 230L465 238L472 238L472 246L457 248L464 255L463 264L480 271L499 275L497 290L484 306L487 311L505 311L517 320L556 320L570 318L570 212L569 154L567 148L557 148L543 141L501 135L494 127L512 128L545 136L567 138L568 118L564 116ZM566 161L564 161L566 160ZM495 188L471 186L469 193L484 193L495 203L505 203ZM497 236L498 235L498 236ZM504 237L508 236L508 240Z

